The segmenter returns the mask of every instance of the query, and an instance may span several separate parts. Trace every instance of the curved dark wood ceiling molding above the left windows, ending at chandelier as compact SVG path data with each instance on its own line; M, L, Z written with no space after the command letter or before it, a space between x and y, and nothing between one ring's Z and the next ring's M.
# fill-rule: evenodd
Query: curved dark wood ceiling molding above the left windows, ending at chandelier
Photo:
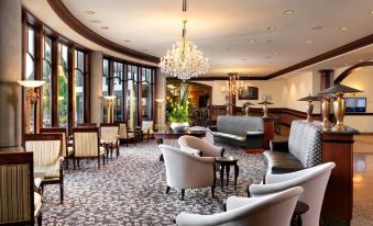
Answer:
M73 13L65 7L62 0L47 0L51 8L54 12L63 20L69 27L72 27L75 32L86 37L87 39L105 47L117 52L119 54L123 54L136 59L146 60L150 63L160 63L160 58L156 56L143 54L131 48L127 48L121 46L114 42L111 42L101 35L97 34L92 30L88 29L85 24L83 24L77 18L73 15Z

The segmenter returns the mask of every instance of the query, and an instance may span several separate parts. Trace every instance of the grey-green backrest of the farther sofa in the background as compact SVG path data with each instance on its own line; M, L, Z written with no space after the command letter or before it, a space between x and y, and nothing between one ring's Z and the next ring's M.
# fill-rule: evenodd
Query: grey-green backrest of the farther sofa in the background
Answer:
M246 132L263 132L263 117L219 115L217 131L227 134L246 136Z

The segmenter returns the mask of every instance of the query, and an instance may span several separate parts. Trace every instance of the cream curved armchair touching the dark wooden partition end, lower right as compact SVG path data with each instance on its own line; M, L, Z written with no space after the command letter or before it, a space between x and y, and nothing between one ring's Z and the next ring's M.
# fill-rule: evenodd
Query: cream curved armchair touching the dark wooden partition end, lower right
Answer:
M262 196L293 187L301 187L305 191L299 195L299 201L309 206L309 211L301 215L303 225L319 225L325 191L334 167L334 162L327 162L296 172L266 174L265 184L250 185L249 194L250 196Z

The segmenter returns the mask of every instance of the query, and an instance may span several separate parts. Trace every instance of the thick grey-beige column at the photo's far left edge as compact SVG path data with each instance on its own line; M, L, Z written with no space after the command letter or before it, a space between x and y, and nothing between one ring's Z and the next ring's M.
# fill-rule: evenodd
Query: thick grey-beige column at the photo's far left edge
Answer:
M0 151L22 143L22 5L0 1Z

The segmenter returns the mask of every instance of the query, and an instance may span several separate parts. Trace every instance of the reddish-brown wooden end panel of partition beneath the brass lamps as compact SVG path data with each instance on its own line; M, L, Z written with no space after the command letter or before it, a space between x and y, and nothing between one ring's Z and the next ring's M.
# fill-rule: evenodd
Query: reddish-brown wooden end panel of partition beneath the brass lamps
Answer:
M323 197L323 218L343 219L347 223L352 219L353 134L356 133L352 128L322 133L321 161L336 163Z

